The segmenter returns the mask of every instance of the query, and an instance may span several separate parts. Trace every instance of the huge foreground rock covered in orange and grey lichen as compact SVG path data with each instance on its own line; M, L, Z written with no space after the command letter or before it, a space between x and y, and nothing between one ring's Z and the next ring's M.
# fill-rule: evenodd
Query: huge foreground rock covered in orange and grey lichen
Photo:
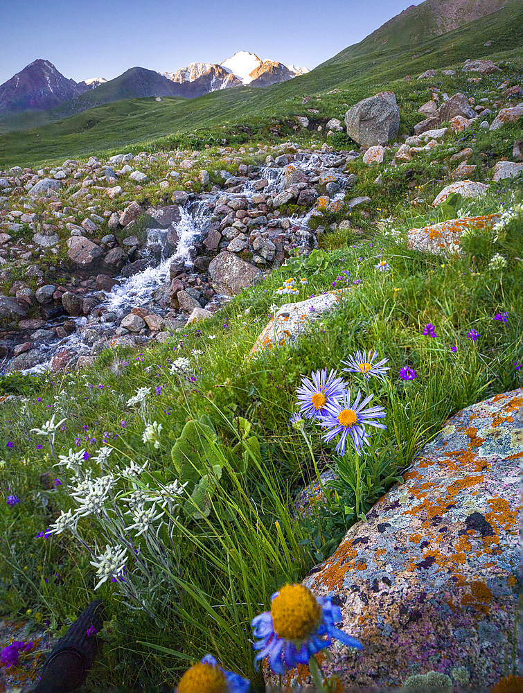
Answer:
M305 577L314 595L342 606L337 627L363 645L357 653L330 647L326 677L348 687L400 685L433 667L430 638L445 670L470 673L470 690L499 682L517 637L522 404L520 388L448 419L403 473L405 483ZM307 674L303 666L281 684L274 674L265 681L299 686Z

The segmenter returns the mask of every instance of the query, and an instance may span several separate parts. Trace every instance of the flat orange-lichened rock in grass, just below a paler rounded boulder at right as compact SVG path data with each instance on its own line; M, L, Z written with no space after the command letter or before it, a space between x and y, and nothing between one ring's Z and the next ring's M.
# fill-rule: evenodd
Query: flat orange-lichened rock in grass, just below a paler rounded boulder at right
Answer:
M450 219L407 231L407 246L434 255L456 256L461 250L461 236L466 229L492 229L499 214Z

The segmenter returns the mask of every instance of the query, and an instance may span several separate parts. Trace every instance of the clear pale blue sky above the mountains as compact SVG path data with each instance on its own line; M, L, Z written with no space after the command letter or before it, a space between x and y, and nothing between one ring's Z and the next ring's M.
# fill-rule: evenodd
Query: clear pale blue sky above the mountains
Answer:
M313 69L409 0L0 0L0 84L33 60L75 82L175 72L237 51Z

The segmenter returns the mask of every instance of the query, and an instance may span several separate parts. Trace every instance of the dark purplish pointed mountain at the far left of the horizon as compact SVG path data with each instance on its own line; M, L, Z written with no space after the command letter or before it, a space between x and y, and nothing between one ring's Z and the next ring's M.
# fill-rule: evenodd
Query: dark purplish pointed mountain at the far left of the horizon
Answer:
M35 60L0 86L0 113L53 108L88 89L86 82L65 78L48 60Z

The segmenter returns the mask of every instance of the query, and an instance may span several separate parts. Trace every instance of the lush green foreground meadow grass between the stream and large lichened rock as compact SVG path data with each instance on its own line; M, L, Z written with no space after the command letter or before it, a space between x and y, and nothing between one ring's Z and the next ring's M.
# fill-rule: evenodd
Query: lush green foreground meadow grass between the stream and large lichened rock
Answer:
M468 211L513 208L521 200L514 181L493 188ZM252 665L249 623L268 608L270 595L285 581L303 579L335 550L348 527L401 480L447 416L522 385L521 216L508 222L495 242L490 235L470 236L462 258L445 260L407 248L401 238L415 212L399 209L394 234L390 223L384 234L363 241L323 234L330 252L318 261L313 256L307 265L296 259L290 268L274 270L213 319L166 344L143 352L107 349L96 367L82 374L19 378L10 385L21 398L1 410L6 438L0 532L8 550L0 559L0 610L28 614L35 626L47 622L51 631L63 633L92 599L102 598L106 643L89 676L92 685L172 686L190 661L209 651L224 667L262 685ZM495 252L506 258L506 267L489 266ZM387 259L389 272L375 270L380 258ZM317 267L321 271L314 274ZM308 278L299 299L333 285L351 288L339 309L314 323L307 337L249 358L270 306L286 299L276 289L291 271ZM495 319L500 313L507 314L506 322ZM422 335L427 323L434 324L436 337ZM471 330L479 332L475 341L467 336ZM389 359L389 377L370 383L373 404L387 412L387 430L373 432L369 453L357 459L349 448L337 457L334 444L308 426L311 457L288 421L301 376L321 368L340 371L351 353L369 349ZM171 366L180 357L190 362L185 371ZM399 378L405 365L414 369L414 380ZM353 393L366 387L355 374L342 376ZM150 388L144 403L126 406L140 387ZM31 430L51 413L56 422L65 419L53 448L48 437ZM171 448L186 421L202 416L215 430L208 444L218 460L218 468L206 471L204 513L197 504L157 505L165 512L163 527L159 518L153 522L158 538L156 530L136 536L136 529L123 529L134 521L133 491L146 484L159 491L178 476ZM159 448L142 440L145 425L153 421L162 426ZM95 456L103 445L113 451L100 468ZM53 468L53 449L67 456L70 448L89 455L78 466L80 477L89 469L93 479L119 475L107 495L106 514L80 518L78 533L37 536L61 511L77 507L69 495L78 484L73 470L64 464ZM131 462L148 464L134 483L121 475ZM294 516L296 493L328 466L339 482L326 489L324 502L313 502L309 515ZM60 484L42 489L44 471ZM9 495L21 502L10 507ZM96 590L99 577L89 561L99 561L106 544L128 547L127 573L124 581L105 581ZM145 613L138 608L142 601Z

